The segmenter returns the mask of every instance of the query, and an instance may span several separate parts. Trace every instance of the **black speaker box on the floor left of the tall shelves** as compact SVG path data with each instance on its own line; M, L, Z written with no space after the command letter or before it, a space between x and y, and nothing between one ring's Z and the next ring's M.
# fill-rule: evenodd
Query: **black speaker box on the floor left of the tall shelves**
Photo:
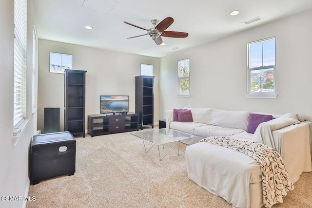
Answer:
M59 132L59 107L44 108L44 133Z

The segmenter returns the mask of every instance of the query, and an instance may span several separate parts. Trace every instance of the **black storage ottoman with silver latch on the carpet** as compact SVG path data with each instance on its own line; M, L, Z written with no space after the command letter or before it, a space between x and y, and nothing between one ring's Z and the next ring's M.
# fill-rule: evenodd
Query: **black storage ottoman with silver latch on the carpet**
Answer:
M30 182L60 175L73 175L76 168L76 139L70 132L38 134L31 143Z

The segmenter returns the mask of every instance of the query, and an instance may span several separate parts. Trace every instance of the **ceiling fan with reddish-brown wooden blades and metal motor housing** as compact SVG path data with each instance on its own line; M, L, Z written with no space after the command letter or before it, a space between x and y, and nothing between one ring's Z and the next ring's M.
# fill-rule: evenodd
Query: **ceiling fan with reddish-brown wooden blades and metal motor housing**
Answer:
M159 23L158 23L157 19L152 19L151 22L154 25L154 27L152 27L150 29L146 29L146 28L143 28L143 27L140 27L140 26L137 26L137 25L134 25L134 24L131 24L129 22L124 21L124 23L126 23L126 24L140 28L142 30L146 30L146 32L147 32L144 35L134 36L134 37L130 37L130 38L137 38L137 37L149 35L156 42L157 45L162 43L161 36L169 37L169 38L186 38L189 35L188 33L184 33L184 32L165 31L174 22L174 19L171 17L165 18ZM129 38L127 38L127 39L129 39Z

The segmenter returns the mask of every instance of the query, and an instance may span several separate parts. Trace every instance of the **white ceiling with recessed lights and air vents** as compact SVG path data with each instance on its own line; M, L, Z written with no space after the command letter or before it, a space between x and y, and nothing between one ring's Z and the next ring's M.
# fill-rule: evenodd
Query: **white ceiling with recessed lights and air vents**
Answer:
M164 57L239 31L312 9L312 0L33 0L37 36L41 39L90 46L150 57ZM238 10L237 16L229 13ZM251 24L243 21L262 19ZM146 31L151 19L172 17L169 31L187 38L166 38L156 45ZM91 25L93 30L87 30ZM172 48L178 47L177 50Z

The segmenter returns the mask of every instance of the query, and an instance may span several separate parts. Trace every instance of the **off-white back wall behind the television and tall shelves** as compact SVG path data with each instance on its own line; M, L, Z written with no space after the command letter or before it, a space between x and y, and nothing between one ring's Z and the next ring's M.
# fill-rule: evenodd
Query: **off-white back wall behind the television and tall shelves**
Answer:
M60 131L64 128L64 75L49 72L50 52L72 54L73 68L86 73L87 115L99 113L99 95L129 95L129 112L135 112L135 76L140 64L154 65L154 121L158 122L159 59L91 47L39 40L38 129L43 129L44 108L60 108Z

